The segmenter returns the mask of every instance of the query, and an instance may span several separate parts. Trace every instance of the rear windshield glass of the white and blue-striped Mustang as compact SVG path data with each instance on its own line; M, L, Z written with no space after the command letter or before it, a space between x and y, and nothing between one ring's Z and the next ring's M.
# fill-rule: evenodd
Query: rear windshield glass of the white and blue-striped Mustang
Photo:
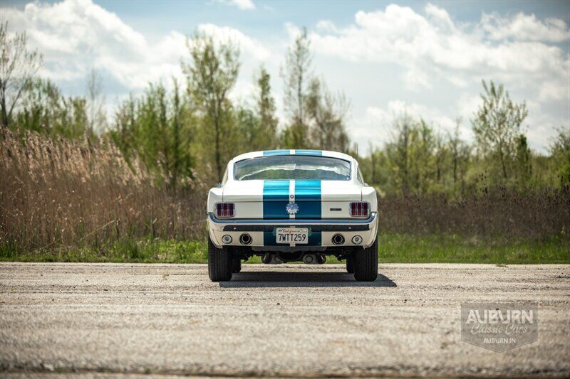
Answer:
M351 164L328 156L279 155L260 156L236 162L235 178L254 179L314 179L321 181L348 181Z

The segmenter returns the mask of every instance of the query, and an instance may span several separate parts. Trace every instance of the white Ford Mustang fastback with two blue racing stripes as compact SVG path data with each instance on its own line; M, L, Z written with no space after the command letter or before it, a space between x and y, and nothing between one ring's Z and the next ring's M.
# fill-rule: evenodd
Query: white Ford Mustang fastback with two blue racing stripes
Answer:
M378 205L358 162L334 151L255 151L229 161L208 194L208 272L229 280L242 260L346 260L356 280L378 276Z

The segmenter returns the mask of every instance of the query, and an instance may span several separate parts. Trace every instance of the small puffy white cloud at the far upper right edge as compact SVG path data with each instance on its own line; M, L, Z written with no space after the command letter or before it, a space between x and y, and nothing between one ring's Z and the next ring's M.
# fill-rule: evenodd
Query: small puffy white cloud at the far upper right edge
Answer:
M540 21L534 14L519 13L512 18L483 14L481 24L493 40L564 42L570 39L568 26L558 18Z

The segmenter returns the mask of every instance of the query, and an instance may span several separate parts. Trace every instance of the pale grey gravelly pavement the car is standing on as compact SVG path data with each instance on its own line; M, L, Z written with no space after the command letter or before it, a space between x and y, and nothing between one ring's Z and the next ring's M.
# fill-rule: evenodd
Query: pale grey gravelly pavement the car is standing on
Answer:
M243 267L1 263L0 376L570 375L570 265ZM460 341L466 301L537 301L538 341Z

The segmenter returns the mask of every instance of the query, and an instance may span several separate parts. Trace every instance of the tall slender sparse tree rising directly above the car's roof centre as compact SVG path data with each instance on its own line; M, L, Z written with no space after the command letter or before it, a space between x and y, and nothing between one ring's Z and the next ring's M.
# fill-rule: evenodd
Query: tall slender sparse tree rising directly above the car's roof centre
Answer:
M306 122L306 97L311 80L311 41L306 28L287 48L285 67L281 68L284 80L284 105L291 118L283 132L283 144L289 149L306 149L309 146L309 127Z

